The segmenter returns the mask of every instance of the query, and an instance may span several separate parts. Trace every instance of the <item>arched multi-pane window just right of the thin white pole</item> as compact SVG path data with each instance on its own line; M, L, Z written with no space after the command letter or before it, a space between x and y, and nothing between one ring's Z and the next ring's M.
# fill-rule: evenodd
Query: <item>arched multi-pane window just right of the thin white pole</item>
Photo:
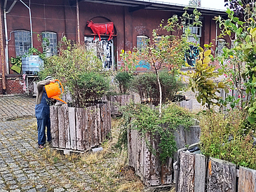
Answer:
M57 33L54 32L42 32L43 39L43 52L46 53L46 57L57 55Z

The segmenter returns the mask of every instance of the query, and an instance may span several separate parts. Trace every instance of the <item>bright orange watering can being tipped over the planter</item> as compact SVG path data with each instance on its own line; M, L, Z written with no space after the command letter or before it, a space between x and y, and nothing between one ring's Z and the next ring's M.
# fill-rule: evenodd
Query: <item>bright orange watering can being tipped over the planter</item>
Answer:
M48 85L45 85L44 88L46 89L46 94L47 97L49 98L53 98L55 100L59 100L61 102L64 102L65 104L67 104L65 101L63 101L62 99L60 99L60 94L63 92L63 86L60 83L60 81L58 79L55 79L55 83L50 83ZM60 90L60 86L62 88L62 91Z

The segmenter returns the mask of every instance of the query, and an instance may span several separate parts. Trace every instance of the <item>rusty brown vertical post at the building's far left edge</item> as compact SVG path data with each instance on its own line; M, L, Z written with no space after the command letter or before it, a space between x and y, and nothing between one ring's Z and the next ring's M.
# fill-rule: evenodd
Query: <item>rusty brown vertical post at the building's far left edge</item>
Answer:
M1 15L1 4L0 4L0 15ZM4 42L2 34L2 18L0 18L0 50L1 50L1 64L2 64L2 89L3 95L6 95L6 67L4 62Z

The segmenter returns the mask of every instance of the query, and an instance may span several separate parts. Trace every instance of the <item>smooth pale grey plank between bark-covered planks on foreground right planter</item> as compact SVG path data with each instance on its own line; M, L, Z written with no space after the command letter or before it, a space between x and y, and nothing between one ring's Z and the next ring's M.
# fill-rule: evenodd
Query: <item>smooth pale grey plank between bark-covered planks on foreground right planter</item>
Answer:
M206 156L195 154L195 177L194 177L194 191L206 191Z

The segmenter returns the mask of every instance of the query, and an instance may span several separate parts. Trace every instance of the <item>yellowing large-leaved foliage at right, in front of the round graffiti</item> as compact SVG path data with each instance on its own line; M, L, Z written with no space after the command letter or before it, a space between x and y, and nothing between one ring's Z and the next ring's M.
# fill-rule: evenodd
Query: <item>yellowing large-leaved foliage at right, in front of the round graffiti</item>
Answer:
M210 45L205 45L206 48L210 48ZM200 48L199 59L196 61L196 69L194 71L187 71L182 74L189 76L189 87L193 92L198 91L196 94L197 102L202 105L207 105L208 109L212 105L217 104L220 106L220 103L217 102L220 100L220 97L216 95L217 92L220 92L220 88L224 88L228 92L226 85L223 82L215 83L213 78L218 77L219 73L215 73L215 67L209 66L211 50L208 49L203 51L203 48Z

